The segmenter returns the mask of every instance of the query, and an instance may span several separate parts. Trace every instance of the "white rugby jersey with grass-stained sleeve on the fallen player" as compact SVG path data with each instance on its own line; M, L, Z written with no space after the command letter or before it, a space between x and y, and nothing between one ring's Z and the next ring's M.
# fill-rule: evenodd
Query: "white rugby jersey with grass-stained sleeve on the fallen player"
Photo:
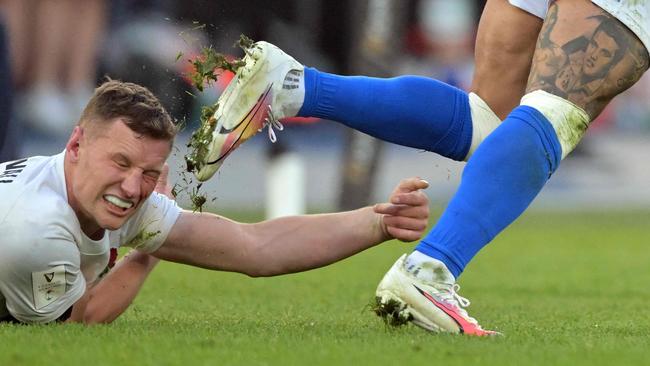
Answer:
M0 164L0 318L59 318L106 268L110 248L153 252L180 214L154 192L122 228L92 240L68 204L64 156Z

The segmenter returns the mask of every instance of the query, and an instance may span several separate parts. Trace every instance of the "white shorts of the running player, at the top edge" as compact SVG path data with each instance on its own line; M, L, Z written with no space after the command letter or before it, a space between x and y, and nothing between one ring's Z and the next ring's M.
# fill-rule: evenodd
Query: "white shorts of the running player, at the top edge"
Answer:
M551 0L508 0L511 5L544 19ZM650 50L650 0L591 0L625 24Z

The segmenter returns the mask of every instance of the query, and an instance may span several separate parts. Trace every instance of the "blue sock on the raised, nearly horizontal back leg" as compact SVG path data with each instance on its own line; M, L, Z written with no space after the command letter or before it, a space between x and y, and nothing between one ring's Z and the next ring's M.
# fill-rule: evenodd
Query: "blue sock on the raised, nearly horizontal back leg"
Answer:
M467 93L434 79L338 76L305 68L305 102L298 112L399 145L463 160L472 143Z

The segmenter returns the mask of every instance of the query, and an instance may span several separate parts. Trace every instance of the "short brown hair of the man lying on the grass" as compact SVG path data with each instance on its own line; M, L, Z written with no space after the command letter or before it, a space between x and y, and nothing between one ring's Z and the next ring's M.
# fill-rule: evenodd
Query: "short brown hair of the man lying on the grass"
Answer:
M144 86L108 80L95 89L79 125L122 118L131 130L160 140L173 140L177 128L158 98Z

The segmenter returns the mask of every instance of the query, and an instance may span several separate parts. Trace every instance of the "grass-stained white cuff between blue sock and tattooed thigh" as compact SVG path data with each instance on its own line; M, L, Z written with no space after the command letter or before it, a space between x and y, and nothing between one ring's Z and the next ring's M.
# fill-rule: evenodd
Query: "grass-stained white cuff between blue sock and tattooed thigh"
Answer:
M551 122L562 146L562 159L578 146L591 123L584 109L543 90L535 90L524 95L521 98L521 105L537 109Z

